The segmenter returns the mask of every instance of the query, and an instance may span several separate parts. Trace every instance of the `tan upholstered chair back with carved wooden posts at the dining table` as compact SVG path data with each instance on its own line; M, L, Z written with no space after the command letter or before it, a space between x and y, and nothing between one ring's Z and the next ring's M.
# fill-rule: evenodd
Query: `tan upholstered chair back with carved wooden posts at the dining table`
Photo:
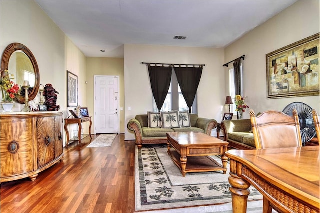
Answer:
M293 109L293 116L276 110L268 110L257 117L253 109L250 109L250 119L256 149L302 146L296 109Z

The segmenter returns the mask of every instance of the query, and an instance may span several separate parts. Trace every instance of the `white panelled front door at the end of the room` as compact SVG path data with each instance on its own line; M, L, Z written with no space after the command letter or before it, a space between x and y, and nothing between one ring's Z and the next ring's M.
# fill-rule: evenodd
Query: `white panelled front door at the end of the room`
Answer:
M94 75L95 133L119 133L119 76Z

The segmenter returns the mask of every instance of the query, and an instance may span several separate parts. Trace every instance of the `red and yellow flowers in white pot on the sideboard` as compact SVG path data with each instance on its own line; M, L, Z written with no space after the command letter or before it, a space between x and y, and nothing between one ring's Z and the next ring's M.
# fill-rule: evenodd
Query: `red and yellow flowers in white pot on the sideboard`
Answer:
M11 78L10 78L11 76ZM1 92L2 92L2 107L4 112L10 112L13 108L13 99L15 95L19 93L20 87L13 81L13 75L9 74L8 70L4 70L4 74L1 75Z

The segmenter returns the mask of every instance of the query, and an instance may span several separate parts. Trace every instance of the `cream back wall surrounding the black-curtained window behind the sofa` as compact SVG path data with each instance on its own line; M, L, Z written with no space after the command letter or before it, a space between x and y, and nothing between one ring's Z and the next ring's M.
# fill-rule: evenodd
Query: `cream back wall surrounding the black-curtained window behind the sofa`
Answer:
M125 125L137 114L152 111L152 91L146 64L205 64L198 87L199 117L221 119L224 110L224 50L156 45L124 45ZM128 108L131 110L128 110ZM125 140L134 134L125 128Z

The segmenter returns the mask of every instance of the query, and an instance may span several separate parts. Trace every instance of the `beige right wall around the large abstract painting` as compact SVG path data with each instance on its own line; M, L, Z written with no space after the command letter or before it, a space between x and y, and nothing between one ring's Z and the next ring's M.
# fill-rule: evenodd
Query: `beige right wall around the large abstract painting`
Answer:
M282 111L292 102L303 102L320 111L319 96L266 99L265 55L320 31L319 1L297 1L264 24L225 48L225 61L245 54L243 63L243 95L254 111ZM225 68L225 91L228 93L228 71ZM244 113L249 118L249 113Z

